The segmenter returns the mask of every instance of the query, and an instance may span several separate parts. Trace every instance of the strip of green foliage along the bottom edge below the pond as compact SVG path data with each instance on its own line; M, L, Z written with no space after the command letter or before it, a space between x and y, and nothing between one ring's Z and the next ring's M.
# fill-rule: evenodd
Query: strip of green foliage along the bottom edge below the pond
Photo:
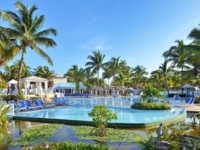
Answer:
M45 142L41 145L34 145L30 150L111 150L108 146L92 144L72 144L70 142Z

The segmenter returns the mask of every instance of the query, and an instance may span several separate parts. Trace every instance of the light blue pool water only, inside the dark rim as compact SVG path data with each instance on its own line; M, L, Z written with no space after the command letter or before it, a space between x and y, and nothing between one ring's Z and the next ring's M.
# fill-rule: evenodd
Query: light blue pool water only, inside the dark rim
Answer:
M78 121L92 121L88 113L93 106L68 105L50 109L20 112L15 116L30 118L64 119ZM112 112L116 112L118 119L112 123L152 123L162 120L176 118L186 114L185 110L134 110L130 108L108 107Z

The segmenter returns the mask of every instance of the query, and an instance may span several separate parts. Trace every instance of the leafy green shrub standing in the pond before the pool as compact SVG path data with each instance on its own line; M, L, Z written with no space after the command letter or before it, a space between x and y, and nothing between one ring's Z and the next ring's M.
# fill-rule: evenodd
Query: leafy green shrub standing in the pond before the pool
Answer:
M106 135L108 122L117 120L117 113L112 113L105 105L93 107L91 112L88 113L88 116L92 117L93 123L96 126L94 131L98 136Z

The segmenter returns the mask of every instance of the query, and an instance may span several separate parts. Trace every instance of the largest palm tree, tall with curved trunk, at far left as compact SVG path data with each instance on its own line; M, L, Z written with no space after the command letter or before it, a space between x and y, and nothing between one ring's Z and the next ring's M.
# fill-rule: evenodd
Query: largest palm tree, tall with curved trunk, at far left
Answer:
M15 3L17 13L11 11L0 11L0 17L10 23L11 28L5 28L5 33L10 37L20 41L20 50L22 52L20 67L18 71L18 90L20 88L20 79L23 69L24 56L28 49L35 50L41 57L46 59L50 65L53 65L52 59L38 45L44 45L46 48L56 46L56 42L47 36L57 35L54 28L40 31L44 22L44 15L33 16L37 10L35 5L25 6L20 1Z

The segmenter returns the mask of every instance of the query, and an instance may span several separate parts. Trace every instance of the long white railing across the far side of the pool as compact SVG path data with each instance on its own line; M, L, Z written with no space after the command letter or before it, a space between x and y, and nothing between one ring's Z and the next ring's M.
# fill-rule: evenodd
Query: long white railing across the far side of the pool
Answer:
M109 107L130 108L138 98L68 98L70 105L106 105Z

